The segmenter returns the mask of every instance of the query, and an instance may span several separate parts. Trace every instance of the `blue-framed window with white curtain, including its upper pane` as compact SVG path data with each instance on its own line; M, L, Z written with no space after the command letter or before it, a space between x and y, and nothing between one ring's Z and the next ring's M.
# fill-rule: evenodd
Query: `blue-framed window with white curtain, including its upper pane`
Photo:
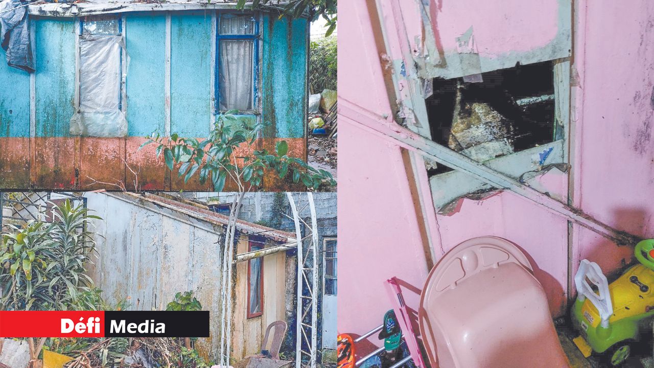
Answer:
M258 28L252 14L218 14L218 111L255 109Z

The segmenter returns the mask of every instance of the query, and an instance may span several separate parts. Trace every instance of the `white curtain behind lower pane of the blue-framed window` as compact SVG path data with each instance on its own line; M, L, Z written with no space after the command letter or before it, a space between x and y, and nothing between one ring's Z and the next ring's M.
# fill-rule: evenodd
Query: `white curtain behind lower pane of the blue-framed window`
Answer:
M252 109L251 40L220 41L220 110Z

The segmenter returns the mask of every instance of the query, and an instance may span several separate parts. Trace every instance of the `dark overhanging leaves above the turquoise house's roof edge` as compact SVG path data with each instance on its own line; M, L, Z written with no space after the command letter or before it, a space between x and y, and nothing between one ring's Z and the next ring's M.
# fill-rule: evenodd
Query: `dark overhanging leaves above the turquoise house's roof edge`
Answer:
M239 0L236 3L236 9L245 9L246 2L247 0ZM336 29L337 0L290 0L285 5L279 5L279 1L275 0L252 0L252 9L263 5L268 7L281 6L280 17L300 18L305 14L310 20L315 20L318 16L322 16L329 26L326 36L331 35Z

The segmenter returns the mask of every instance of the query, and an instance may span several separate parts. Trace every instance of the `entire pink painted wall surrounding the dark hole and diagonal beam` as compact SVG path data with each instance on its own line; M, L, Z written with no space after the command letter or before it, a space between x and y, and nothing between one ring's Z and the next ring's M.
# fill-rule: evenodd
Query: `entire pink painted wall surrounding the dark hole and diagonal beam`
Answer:
M339 2L339 98L388 115L390 105L373 32L381 35L379 29L373 31L366 3ZM416 9L413 1L407 3L407 12ZM437 3L447 3L441 5L443 9L456 8L449 0ZM515 9L524 8L516 5ZM654 144L650 141L654 2L594 1L593 7L586 9L586 1L575 1L574 8L572 202L617 229L654 237ZM502 42L506 45L502 37L494 37L489 24L508 14L498 14L492 7L468 10L480 24L475 23L479 39L486 45L496 40L498 50ZM528 18L525 14L521 20ZM412 17L418 19L415 14L403 14L405 19ZM382 21L390 24L392 20ZM551 28L538 31L539 24L551 24L547 14L527 21L532 21L528 29L534 37L512 43L515 51L538 47L550 37ZM415 24L411 26L415 28ZM510 33L511 28L502 26L500 31ZM399 145L358 122L343 117L341 121L339 238L343 247L339 254L338 331L356 336L381 324L390 309L384 289L390 276L405 282L407 305L417 310L430 265L424 254L426 236L419 232L421 220L416 215L421 204L409 191L413 179L407 172L411 167L402 159ZM567 175L546 174L540 180L550 191L568 192ZM423 180L419 185L428 184ZM432 230L435 262L443 251L475 236L500 236L520 246L545 287L553 316L564 312L568 293L575 293L568 290L574 276L568 274L569 263L574 272L579 260L588 258L611 272L630 261L632 253L632 249L617 247L576 225L569 245L566 219L508 192L481 201L463 200L458 212L431 217L426 226ZM362 348L366 351L379 343L371 338Z

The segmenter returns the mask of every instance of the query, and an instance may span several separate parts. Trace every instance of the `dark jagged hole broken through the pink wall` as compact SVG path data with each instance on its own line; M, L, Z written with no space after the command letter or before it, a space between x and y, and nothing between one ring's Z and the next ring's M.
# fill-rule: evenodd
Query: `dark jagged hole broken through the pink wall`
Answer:
M481 77L481 83L434 79L434 94L426 99L434 141L483 162L555 140L552 62ZM439 165L429 174L449 171Z

